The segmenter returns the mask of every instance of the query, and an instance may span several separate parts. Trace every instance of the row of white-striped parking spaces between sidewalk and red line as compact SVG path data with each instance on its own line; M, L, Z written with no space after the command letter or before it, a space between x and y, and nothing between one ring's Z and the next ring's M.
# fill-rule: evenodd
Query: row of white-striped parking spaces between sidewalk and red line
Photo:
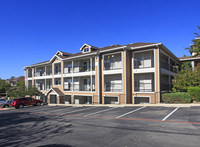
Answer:
M31 111L46 114L58 114L68 116L80 116L88 118L113 118L113 119L138 119L174 122L200 122L200 107L72 107L72 106L40 106L14 109L15 111Z

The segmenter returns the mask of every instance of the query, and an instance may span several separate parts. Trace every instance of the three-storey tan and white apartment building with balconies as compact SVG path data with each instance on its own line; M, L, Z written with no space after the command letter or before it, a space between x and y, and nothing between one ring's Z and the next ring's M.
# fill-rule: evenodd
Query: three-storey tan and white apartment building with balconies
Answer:
M161 43L84 44L79 53L58 51L25 67L25 85L51 104L160 103L179 69L179 58Z

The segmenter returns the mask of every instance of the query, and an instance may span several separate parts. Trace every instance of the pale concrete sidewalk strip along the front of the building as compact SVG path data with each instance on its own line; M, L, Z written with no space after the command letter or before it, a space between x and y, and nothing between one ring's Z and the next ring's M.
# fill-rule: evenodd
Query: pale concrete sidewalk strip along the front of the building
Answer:
M192 103L192 104L48 104L49 106L72 106L72 107L140 107L140 106L150 106L150 107L194 107L199 106L200 103Z

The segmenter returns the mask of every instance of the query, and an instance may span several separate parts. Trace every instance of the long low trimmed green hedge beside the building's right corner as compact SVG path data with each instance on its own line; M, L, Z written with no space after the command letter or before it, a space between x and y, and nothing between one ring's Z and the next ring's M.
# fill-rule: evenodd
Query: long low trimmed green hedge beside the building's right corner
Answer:
M164 93L162 94L162 100L165 103L191 103L191 97L189 93L177 92L177 93Z

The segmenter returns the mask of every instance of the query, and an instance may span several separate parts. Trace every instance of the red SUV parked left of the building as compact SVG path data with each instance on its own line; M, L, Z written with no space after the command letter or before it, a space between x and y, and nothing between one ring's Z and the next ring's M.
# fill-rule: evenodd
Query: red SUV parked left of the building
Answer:
M42 100L38 99L33 99L31 97L21 97L21 98L16 98L12 101L11 106L15 107L16 109L18 108L23 108L24 106L40 106L43 103Z

